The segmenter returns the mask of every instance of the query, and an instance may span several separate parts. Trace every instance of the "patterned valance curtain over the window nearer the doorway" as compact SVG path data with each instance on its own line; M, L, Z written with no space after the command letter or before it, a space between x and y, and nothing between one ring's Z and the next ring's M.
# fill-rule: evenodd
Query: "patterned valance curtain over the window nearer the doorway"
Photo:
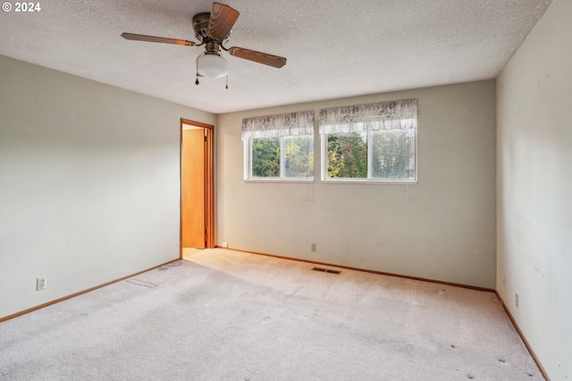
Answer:
M314 111L242 119L242 140L314 134Z

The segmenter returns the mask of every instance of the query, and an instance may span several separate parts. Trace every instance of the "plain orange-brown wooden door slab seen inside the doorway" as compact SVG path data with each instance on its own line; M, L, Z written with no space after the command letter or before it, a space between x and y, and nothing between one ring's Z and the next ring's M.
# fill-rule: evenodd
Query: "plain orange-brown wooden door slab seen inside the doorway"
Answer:
M206 130L185 127L181 153L181 243L183 248L206 247Z

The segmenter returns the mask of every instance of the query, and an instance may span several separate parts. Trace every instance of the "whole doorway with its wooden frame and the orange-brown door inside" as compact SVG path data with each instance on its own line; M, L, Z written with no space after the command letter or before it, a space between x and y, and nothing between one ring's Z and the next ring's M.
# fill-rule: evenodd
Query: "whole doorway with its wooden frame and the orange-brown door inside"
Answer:
M214 127L181 119L181 258L214 248Z

